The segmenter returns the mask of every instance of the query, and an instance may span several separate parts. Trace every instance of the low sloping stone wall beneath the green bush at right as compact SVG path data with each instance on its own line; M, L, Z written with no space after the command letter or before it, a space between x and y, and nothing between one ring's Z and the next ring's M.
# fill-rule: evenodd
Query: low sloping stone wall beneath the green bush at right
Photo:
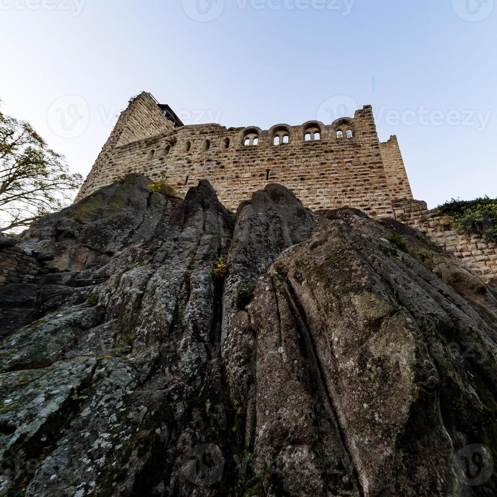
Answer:
M497 278L497 243L486 243L479 235L447 229L445 217L429 210L427 203L407 198L393 200L395 218L412 226L447 252L466 262L485 282Z

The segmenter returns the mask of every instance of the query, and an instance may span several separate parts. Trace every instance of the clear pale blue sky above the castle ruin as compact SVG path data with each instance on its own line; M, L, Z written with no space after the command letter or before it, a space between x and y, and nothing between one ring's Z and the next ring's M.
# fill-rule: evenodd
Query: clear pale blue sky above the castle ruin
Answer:
M85 176L141 90L228 127L372 104L415 198L496 197L494 2L0 0L0 98Z

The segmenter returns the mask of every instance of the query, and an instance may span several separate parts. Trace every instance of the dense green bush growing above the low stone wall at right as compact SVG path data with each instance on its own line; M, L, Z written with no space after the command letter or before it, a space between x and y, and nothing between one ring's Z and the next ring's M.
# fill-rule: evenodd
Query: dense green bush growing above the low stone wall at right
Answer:
M438 211L451 219L460 232L478 234L486 242L494 241L497 237L497 198L452 199L439 205Z

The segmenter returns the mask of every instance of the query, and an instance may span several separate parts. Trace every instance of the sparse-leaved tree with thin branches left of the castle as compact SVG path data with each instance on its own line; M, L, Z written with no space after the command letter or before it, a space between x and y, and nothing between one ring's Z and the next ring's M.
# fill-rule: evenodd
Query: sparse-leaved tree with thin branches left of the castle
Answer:
M81 182L27 122L0 112L0 233L62 209Z

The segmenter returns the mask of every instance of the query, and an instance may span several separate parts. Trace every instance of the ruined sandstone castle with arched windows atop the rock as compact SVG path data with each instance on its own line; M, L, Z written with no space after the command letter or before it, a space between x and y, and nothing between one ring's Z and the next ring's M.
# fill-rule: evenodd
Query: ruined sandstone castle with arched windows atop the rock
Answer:
M121 114L78 200L127 173L156 179L162 171L181 193L208 179L231 208L267 183L311 209L356 207L373 217L393 217L394 200L412 199L397 138L380 143L370 105L329 125L184 126L144 92Z

